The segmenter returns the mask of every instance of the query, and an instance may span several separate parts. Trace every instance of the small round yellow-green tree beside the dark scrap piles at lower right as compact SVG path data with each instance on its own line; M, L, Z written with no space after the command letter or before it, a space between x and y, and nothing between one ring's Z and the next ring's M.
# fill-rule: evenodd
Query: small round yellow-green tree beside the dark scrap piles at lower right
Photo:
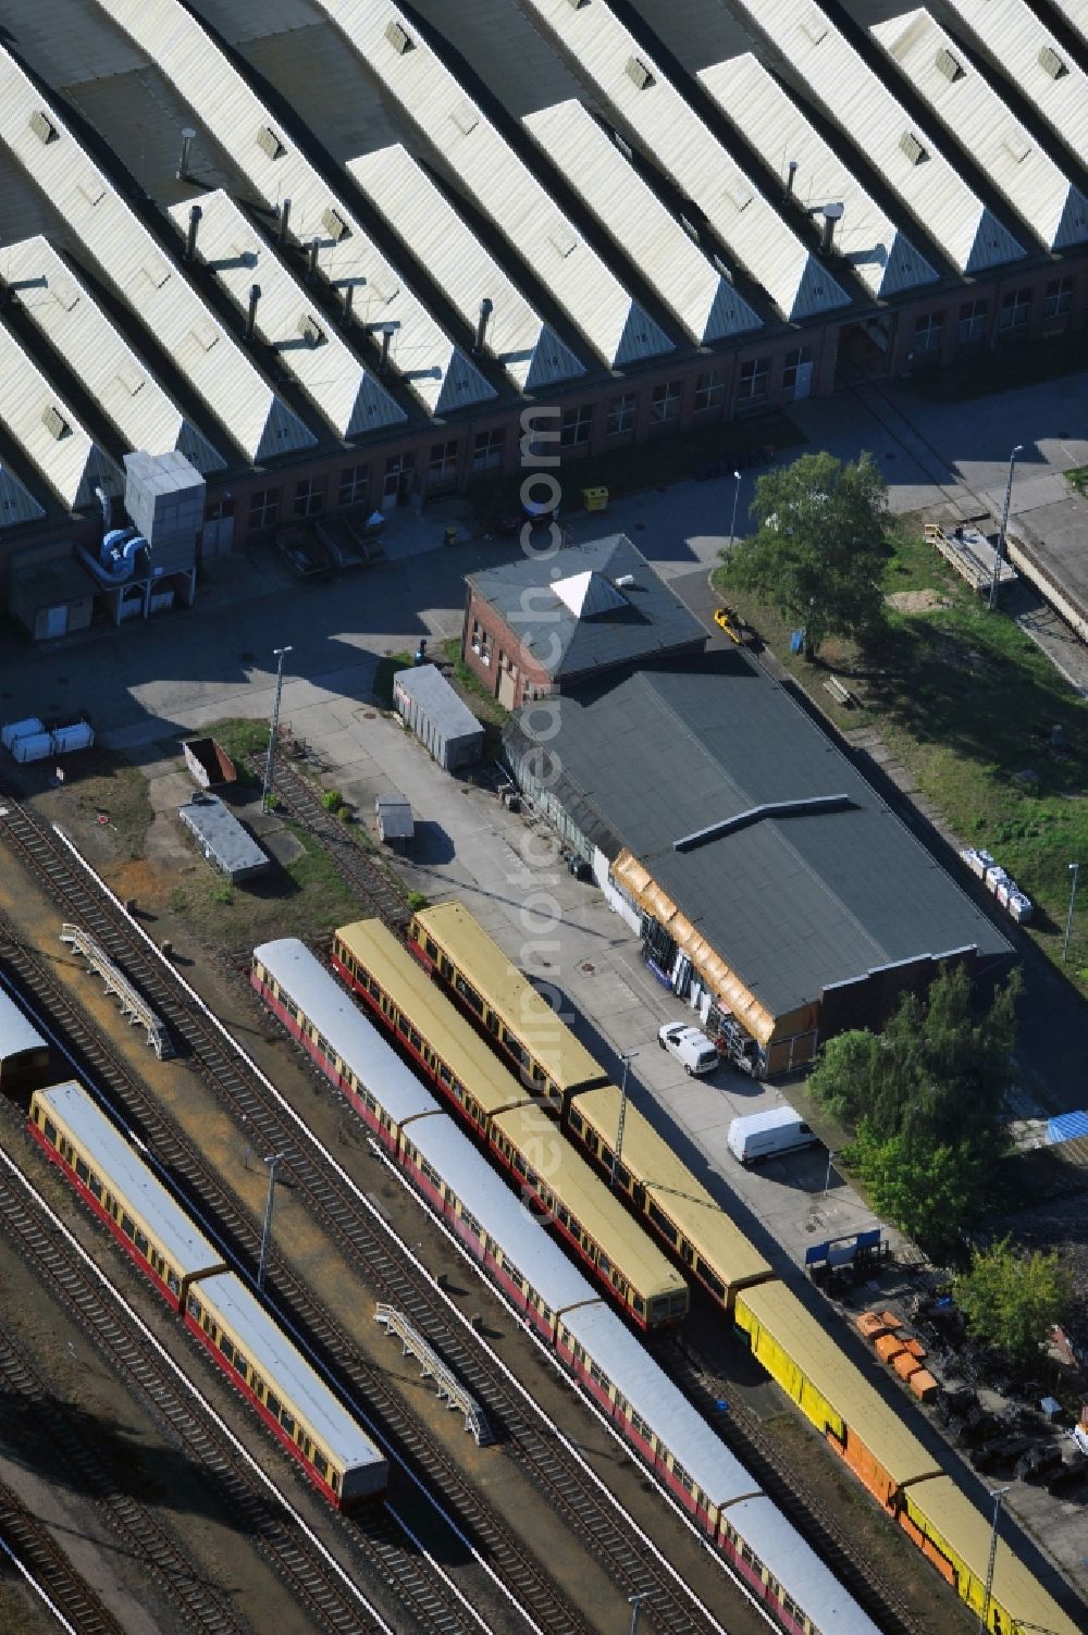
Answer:
M1068 1310L1073 1283L1057 1249L1027 1254L1003 1238L972 1254L970 1270L955 1279L954 1292L978 1339L1018 1367L1029 1367Z

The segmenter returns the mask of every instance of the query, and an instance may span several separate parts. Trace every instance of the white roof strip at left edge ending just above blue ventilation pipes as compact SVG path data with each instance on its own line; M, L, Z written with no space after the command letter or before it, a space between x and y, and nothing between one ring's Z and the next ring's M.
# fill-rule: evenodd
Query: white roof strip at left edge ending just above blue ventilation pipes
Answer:
M98 486L113 499L119 499L124 492L119 466L98 446L75 410L3 325L0 325L0 417L10 437L69 510L95 505Z

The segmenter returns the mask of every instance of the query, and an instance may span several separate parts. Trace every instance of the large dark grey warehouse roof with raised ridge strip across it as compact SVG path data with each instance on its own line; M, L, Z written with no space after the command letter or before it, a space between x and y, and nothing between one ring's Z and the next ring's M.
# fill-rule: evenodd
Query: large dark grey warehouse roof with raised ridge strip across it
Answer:
M546 747L776 1015L901 960L1011 952L831 739L740 652L587 682L564 693Z

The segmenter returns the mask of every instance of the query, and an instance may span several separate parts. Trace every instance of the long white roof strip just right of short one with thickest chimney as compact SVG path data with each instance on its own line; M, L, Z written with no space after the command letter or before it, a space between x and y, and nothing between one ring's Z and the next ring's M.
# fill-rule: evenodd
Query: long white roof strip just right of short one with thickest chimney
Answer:
M812 0L736 0L962 273L1024 255Z

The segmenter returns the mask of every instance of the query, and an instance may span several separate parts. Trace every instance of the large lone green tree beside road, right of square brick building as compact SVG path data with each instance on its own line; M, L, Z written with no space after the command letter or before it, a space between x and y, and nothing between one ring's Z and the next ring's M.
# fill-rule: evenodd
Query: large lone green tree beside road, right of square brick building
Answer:
M870 455L844 464L802 455L756 482L756 533L725 549L723 579L805 629L805 656L828 636L870 639L883 628L880 576L887 484Z

